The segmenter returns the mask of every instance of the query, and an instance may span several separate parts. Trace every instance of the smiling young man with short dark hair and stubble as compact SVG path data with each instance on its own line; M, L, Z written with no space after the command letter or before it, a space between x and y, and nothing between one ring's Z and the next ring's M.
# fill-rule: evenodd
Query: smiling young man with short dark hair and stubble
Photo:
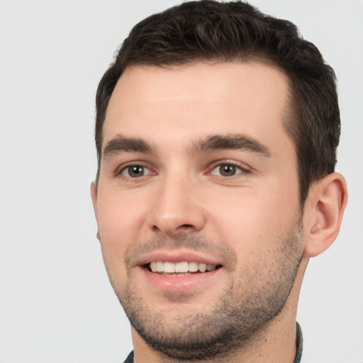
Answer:
M248 4L185 3L131 30L96 111L91 196L125 362L300 362L303 274L347 202L320 52Z

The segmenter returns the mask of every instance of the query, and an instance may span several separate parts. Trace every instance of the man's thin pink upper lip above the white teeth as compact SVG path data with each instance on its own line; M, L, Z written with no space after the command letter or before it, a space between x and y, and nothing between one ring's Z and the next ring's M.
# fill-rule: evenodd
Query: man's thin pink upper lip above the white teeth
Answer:
M154 252L147 253L145 255L140 255L135 261L136 265L144 266L150 262L199 262L203 264L223 264L220 259L213 257L208 257L206 255L201 255L198 252L188 251L188 250L158 250Z

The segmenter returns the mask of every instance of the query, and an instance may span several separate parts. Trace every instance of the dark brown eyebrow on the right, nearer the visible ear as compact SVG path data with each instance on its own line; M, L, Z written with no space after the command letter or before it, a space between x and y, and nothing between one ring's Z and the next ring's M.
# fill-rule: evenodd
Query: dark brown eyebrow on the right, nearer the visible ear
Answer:
M271 157L266 145L247 135L213 135L193 143L192 153L211 152L215 150L243 150L256 152L264 157Z

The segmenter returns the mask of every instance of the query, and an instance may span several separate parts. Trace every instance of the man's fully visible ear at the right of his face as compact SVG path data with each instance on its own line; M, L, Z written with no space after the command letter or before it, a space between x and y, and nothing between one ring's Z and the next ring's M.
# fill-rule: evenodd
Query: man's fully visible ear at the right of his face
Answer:
M337 238L347 205L347 183L339 173L329 174L311 186L306 201L305 254L315 257Z

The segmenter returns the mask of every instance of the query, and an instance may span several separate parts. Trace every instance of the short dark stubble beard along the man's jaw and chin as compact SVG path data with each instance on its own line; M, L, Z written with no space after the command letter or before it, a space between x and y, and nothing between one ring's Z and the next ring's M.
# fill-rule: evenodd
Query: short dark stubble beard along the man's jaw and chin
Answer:
M247 270L235 269L238 274L230 274L228 286L215 301L211 296L211 304L203 312L191 311L169 319L163 311L150 310L150 303L138 294L130 279L123 291L116 284L113 288L131 325L153 350L179 361L218 360L233 350L243 349L281 313L301 262L301 238L299 219L286 235L271 242L278 247L266 254L266 259L258 258ZM210 250L211 246L210 242L187 236L177 242L158 240L154 245L176 243L195 250L201 250L201 246ZM218 244L213 247L216 248L225 247ZM236 258L232 257L234 261ZM172 300L172 296L168 297Z

